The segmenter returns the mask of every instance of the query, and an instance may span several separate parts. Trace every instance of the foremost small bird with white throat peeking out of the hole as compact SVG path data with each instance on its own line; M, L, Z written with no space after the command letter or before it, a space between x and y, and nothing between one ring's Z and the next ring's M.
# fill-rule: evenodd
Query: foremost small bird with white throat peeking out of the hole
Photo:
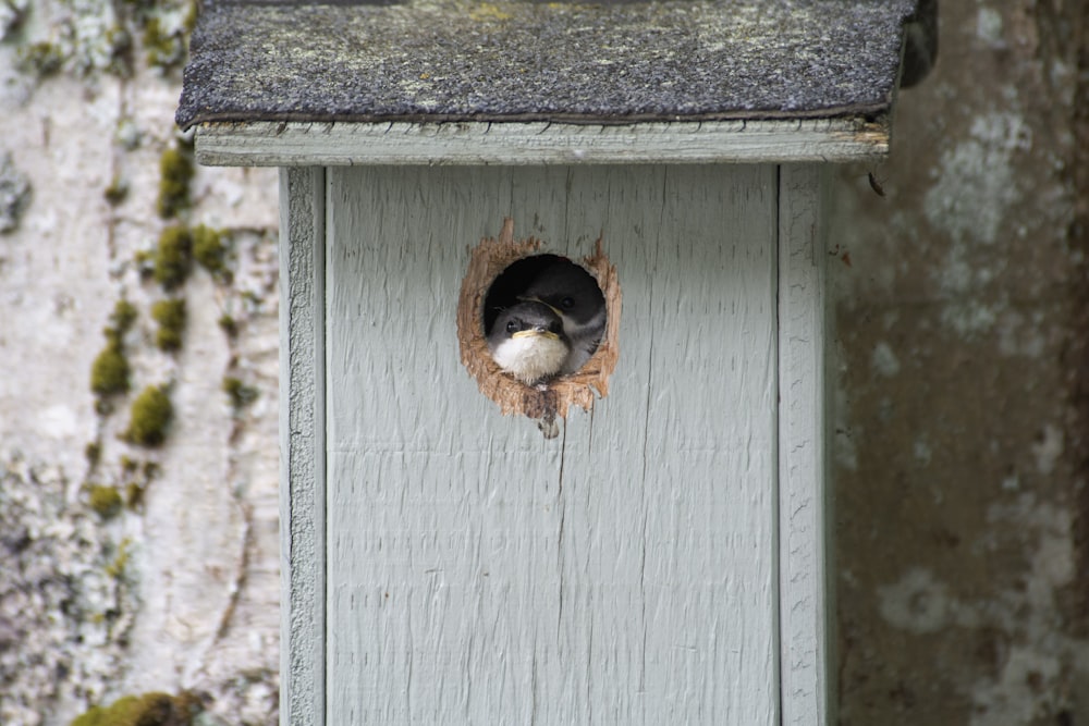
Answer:
M523 300L505 308L488 333L492 360L526 385L559 374L571 353L560 316L544 303Z

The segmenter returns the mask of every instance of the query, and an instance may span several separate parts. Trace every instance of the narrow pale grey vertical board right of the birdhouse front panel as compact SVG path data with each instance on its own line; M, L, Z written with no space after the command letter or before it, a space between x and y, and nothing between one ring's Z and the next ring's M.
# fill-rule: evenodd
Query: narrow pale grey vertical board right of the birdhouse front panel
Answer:
M834 716L832 503L825 452L827 169L786 165L780 179L780 595L783 723Z

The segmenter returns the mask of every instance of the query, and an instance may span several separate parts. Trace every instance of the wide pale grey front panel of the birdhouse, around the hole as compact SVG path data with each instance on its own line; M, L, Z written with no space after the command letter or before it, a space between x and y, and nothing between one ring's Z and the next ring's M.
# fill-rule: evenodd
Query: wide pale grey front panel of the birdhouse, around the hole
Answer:
M774 168L329 175L330 723L779 723ZM553 441L458 360L504 216L624 291Z

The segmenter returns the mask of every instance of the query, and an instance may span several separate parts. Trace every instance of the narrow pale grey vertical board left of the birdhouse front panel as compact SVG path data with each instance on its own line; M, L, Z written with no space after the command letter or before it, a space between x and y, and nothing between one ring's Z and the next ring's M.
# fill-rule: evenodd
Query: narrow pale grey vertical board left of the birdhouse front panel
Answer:
M325 723L325 170L280 172L280 723Z

